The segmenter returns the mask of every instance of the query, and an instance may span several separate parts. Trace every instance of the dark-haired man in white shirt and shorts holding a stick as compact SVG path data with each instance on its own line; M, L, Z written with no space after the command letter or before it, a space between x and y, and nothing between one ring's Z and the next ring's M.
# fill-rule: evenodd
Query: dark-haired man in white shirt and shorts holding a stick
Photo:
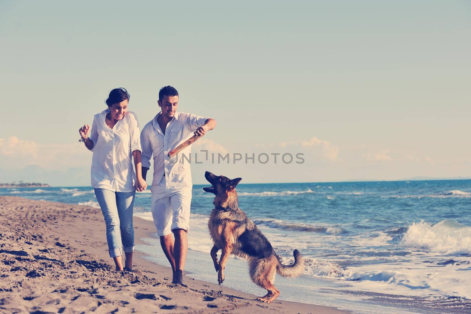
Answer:
M154 179L151 209L157 234L165 256L173 271L172 283L182 284L183 268L187 258L191 173L190 163L168 157L168 153L193 135L204 135L214 129L216 120L189 113L178 113L178 91L171 86L159 91L161 112L146 124L141 132L142 177L146 179L150 158L154 155ZM179 154L189 158L191 147ZM172 236L173 233L173 236Z

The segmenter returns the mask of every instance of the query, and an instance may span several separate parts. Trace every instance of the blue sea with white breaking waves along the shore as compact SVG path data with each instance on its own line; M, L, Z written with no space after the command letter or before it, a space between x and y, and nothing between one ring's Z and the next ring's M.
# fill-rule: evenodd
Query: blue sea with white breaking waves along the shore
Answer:
M189 276L217 282L207 221L214 194L193 186ZM355 313L471 313L471 180L239 184L239 207L284 264L300 250L296 279L276 278L279 299ZM0 195L99 208L93 188L1 188ZM152 220L150 191L134 215ZM103 234L103 236L105 236ZM157 236L136 249L167 265ZM223 283L264 295L231 258Z

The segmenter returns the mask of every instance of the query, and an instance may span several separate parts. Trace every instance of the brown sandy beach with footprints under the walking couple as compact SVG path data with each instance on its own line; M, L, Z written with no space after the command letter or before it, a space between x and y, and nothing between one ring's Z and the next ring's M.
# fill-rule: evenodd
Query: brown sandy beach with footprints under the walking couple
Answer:
M256 296L185 276L134 255L134 272L115 272L99 209L0 197L2 313L346 313L333 307ZM154 225L134 217L136 243ZM155 250L161 250L160 247ZM211 263L208 256L208 262Z

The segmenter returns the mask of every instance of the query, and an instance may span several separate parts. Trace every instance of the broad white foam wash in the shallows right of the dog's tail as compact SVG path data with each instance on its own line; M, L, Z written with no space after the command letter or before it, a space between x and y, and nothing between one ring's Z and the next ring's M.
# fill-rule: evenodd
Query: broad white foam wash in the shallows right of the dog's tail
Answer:
M468 282L471 280L471 258L443 261L437 256L425 256L432 260L424 263L420 255L405 260L382 264L342 267L334 261L305 258L303 275L332 278L349 282L349 290L363 290L397 295L449 296L471 298ZM292 257L279 257L284 265L290 265ZM377 259L377 258L374 258ZM433 260L435 259L435 260ZM343 289L343 288L341 288Z

